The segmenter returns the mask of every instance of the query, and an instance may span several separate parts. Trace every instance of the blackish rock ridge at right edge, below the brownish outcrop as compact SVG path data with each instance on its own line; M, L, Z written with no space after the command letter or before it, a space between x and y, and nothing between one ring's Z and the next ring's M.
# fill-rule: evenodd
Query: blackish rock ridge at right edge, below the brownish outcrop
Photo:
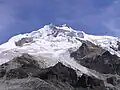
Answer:
M94 57L78 58L74 56L74 58L81 65L100 73L120 75L120 58L116 55L110 54L108 51L104 52L102 55L96 55Z

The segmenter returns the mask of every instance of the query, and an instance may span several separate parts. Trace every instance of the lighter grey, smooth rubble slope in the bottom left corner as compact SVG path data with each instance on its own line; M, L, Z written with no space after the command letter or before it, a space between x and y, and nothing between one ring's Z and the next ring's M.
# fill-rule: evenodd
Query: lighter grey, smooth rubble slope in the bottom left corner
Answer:
M0 82L0 90L60 90L44 80L32 77Z

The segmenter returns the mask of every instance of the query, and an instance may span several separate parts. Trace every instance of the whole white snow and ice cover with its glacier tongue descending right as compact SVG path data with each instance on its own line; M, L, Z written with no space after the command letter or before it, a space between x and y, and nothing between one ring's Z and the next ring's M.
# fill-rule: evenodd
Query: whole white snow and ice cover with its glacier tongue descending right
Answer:
M16 35L0 45L0 64L22 53L28 53L36 58L42 56L46 66L62 62L72 68L80 69L81 72L92 74L87 68L82 67L69 57L70 52L77 50L82 45L76 38L88 40L120 57L118 50L120 40L117 37L88 35L83 31L73 30L67 25L50 24L31 33Z

